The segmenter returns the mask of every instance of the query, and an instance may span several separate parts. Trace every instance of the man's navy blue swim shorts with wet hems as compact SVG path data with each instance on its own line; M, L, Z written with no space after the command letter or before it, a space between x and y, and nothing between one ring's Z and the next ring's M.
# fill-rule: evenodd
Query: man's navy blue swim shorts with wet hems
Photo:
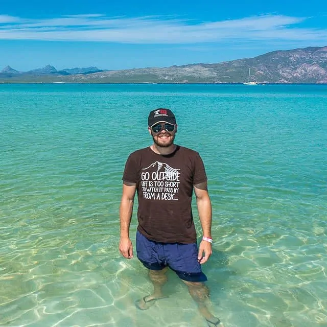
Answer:
M168 266L184 281L205 282L207 280L198 262L196 243L154 242L137 230L136 252L138 260L148 269L161 270Z

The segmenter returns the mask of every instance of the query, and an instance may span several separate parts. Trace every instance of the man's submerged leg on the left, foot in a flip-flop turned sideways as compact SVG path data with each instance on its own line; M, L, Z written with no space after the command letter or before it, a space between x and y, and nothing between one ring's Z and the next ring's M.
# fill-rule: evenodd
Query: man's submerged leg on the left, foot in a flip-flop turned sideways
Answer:
M162 270L149 270L149 277L153 285L153 293L135 302L135 306L138 309L147 310L156 300L164 298L162 295L162 286L167 282L167 269L166 267Z

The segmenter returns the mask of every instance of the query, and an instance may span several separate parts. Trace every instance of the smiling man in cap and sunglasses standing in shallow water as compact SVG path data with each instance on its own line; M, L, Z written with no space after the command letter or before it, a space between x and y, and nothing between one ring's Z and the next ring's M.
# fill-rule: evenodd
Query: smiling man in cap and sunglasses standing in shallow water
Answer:
M167 281L167 267L174 270L188 286L200 313L209 326L220 320L205 306L207 280L201 270L212 254L212 206L207 191L207 177L200 155L174 144L177 123L170 109L150 112L148 130L153 144L131 153L123 174L120 205L121 239L119 250L133 258L129 227L135 192L138 196L136 252L149 269L153 293L137 300L138 309L146 310L164 297L161 287ZM199 245L192 215L193 191L203 231Z

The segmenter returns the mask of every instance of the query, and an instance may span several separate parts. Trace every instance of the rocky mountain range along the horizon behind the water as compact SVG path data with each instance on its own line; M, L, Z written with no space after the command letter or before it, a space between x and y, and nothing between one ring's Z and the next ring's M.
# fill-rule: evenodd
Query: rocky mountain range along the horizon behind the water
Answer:
M51 65L19 72L10 66L0 71L0 82L66 83L327 83L327 46L277 50L254 58L220 63L133 68L118 71L98 67L67 68Z

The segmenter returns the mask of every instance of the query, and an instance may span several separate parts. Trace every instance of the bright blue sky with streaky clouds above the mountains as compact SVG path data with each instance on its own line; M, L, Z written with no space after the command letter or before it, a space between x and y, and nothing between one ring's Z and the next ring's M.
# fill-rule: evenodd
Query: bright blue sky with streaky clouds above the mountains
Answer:
M167 67L327 45L327 2L2 1L0 70Z

